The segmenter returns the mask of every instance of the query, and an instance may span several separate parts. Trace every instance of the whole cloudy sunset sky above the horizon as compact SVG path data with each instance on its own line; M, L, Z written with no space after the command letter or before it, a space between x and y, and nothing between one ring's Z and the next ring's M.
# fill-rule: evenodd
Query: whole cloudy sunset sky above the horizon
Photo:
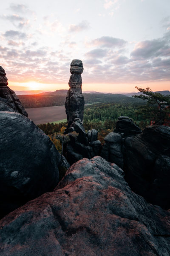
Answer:
M6 0L0 65L13 90L69 89L81 59L82 90L170 90L170 0Z

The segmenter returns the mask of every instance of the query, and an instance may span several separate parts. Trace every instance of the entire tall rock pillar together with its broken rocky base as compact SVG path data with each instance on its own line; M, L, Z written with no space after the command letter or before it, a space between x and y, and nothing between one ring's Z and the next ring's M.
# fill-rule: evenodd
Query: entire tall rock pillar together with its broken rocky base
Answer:
M82 95L82 61L73 60L70 72L72 74L68 83L70 89L65 101L68 120L65 134L68 134L70 141L66 145L65 156L68 162L73 164L84 157L91 159L95 155L99 155L102 146L97 139L98 132L93 129L86 134L82 125L85 105Z

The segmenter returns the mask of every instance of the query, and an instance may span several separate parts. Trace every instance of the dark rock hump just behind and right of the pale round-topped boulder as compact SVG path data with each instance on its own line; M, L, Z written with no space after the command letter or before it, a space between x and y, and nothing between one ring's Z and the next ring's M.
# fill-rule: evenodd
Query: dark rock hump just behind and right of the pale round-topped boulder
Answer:
M121 134L122 137L131 137L142 133L142 130L134 124L128 116L119 116L114 132Z

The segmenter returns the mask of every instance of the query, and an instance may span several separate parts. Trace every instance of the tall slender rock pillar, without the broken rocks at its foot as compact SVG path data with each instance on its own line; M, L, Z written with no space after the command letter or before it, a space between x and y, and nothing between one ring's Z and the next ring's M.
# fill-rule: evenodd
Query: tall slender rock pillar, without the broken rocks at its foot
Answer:
M65 112L67 114L68 127L65 133L68 133L68 128L75 118L83 120L85 100L82 95L82 76L83 65L80 60L73 60L70 68L71 76L69 80L69 87L66 101Z

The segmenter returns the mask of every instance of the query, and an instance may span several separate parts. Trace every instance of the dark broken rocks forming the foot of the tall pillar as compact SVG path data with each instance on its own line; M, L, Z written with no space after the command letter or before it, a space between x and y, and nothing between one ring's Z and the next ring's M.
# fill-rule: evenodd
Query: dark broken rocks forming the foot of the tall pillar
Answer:
M76 133L75 133L76 132ZM68 128L68 136L70 141L66 146L66 158L70 164L87 157L91 159L95 155L99 155L102 149L101 142L97 140L98 132L89 130L86 134L80 119L75 118L71 127Z

